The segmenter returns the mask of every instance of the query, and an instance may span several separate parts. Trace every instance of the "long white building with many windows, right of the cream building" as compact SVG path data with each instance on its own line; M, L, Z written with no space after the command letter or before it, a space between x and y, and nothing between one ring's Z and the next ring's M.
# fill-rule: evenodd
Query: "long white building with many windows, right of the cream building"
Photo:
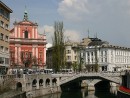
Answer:
M99 71L123 71L130 67L130 48L112 46L101 40L93 41L84 51L84 62L91 71L96 63Z

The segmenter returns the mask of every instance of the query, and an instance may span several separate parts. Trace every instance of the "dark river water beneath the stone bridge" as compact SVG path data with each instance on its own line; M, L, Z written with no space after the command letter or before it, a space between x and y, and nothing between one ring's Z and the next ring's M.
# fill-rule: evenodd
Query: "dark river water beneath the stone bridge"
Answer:
M37 98L117 98L116 87L110 88L110 91L87 91L81 89L76 91L62 92L56 94L45 95Z

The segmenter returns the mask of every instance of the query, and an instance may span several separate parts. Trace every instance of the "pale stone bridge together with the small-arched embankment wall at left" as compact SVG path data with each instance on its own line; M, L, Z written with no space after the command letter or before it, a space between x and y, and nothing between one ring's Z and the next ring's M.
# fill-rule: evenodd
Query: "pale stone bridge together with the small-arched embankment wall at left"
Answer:
M79 74L23 74L10 75L15 80L14 89L31 92L31 94L40 91L47 94L48 92L60 91L61 87L71 82L86 80L88 85L97 84L100 81L109 81L117 84L121 83L120 73L79 73ZM5 76L0 76L0 82L5 79Z

